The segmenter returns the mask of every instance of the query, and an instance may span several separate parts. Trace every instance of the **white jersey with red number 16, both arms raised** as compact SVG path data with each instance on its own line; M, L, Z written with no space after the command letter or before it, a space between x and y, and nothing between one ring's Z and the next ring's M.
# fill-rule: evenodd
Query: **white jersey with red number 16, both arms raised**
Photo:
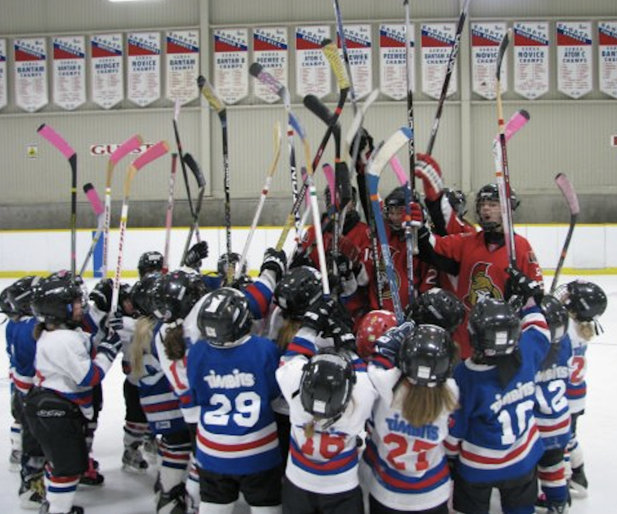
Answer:
M366 374L366 364L354 360L356 383L342 416L331 426L317 421L302 407L300 379L306 355L281 361L276 379L289 404L291 439L285 470L287 478L300 489L321 494L336 494L354 489L358 479L358 436L363 433L377 397ZM312 426L312 429L305 429Z

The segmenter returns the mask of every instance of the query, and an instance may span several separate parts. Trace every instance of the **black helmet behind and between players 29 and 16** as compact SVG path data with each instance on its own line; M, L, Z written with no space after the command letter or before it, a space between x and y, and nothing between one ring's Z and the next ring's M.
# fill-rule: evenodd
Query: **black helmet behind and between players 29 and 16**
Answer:
M289 270L276 284L274 302L284 316L301 320L309 305L322 294L321 273L310 266L299 266Z

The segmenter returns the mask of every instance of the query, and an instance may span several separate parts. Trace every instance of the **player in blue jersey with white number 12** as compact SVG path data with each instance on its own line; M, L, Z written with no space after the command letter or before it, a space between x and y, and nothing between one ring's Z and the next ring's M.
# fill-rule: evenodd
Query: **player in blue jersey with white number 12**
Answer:
M566 398L568 361L572 355L568 330L568 312L554 297L547 294L540 309L550 330L550 350L536 373L536 417L544 454L538 463L538 478L542 487L537 506L549 514L563 514L568 509L563 452L570 436L570 412Z

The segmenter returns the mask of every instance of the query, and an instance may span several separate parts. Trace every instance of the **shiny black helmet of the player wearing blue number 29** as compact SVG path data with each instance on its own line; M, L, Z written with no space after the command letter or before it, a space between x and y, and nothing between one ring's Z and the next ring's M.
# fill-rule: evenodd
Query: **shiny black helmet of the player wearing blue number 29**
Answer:
M202 336L218 347L231 347L251 333L253 316L246 296L237 289L220 288L209 292L197 315Z

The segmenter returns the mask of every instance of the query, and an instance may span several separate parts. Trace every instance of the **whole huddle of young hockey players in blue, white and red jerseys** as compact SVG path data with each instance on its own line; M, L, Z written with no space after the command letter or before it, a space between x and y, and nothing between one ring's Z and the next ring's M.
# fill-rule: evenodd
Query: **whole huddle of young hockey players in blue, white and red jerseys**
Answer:
M587 491L576 422L607 297L582 280L545 294L518 234L509 264L497 186L476 194L477 230L418 157L413 288L405 189L383 201L404 321L355 193L323 220L329 295L312 229L289 262L267 249L254 280L228 279L235 254L203 275L199 242L168 273L147 252L117 291L66 272L4 289L22 507L80 514L78 484L103 483L91 447L122 355L122 465L143 473L156 445L157 513L231 514L241 492L256 514L478 514L495 488L504 513L567 512Z

